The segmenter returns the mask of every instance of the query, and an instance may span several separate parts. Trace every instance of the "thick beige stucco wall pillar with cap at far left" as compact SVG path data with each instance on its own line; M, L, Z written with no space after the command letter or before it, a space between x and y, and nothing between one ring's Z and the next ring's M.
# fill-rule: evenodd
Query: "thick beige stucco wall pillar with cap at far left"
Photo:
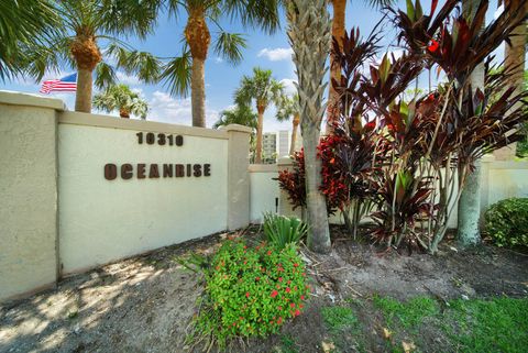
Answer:
M0 92L0 300L57 277L58 100Z

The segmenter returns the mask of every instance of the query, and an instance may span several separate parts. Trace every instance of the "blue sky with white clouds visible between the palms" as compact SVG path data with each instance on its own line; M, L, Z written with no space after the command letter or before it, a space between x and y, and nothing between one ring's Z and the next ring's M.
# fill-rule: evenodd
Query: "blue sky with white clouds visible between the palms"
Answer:
M427 13L430 9L429 1L422 1L424 11ZM443 1L440 1L439 7ZM396 5L405 9L405 0L398 0ZM496 8L492 2L488 11L488 21L493 19ZM330 8L331 11L331 8ZM438 11L438 10L437 10ZM353 0L346 8L346 30L352 26L359 27L363 36L367 36L374 25L383 16L382 11L372 8L366 0ZM121 38L139 51L147 51L161 57L179 55L182 52L182 38L186 18L180 15L178 19L168 18L163 14L158 19L157 26L153 29L146 40L140 41L134 37ZM221 57L209 49L206 62L206 123L211 126L219 118L222 110L233 107L233 92L240 85L243 75L251 75L253 67L271 69L273 77L283 82L286 92L293 93L296 80L295 65L292 60L292 48L286 35L286 20L282 15L280 30L270 35L258 30L244 29L237 21L230 22L229 19L222 19L220 25L228 32L243 33L248 42L248 47L242 51L243 60L238 66L226 63ZM215 37L218 31L213 23L209 23L211 36ZM400 51L395 42L395 31L389 25L385 26L381 45L382 52ZM102 45L101 45L102 46ZM103 49L103 47L101 47ZM504 48L499 48L504 52ZM380 54L381 57L383 53ZM74 70L65 67L61 73L50 73L44 79L61 78ZM191 125L190 97L172 97L163 84L145 85L134 76L129 76L123 71L118 71L118 78L121 84L130 87L140 93L148 102L150 112L147 120L161 121L175 124ZM419 81L420 87L426 87L427 79ZM38 93L41 82L34 82L31 79L15 79L13 81L0 82L1 90L14 90L29 93ZM74 110L75 92L56 92L46 97L64 100L68 110ZM94 111L97 112L97 111ZM292 130L289 122L277 122L275 119L276 110L272 106L264 115L264 131L272 132L278 130ZM112 115L118 115L114 112Z

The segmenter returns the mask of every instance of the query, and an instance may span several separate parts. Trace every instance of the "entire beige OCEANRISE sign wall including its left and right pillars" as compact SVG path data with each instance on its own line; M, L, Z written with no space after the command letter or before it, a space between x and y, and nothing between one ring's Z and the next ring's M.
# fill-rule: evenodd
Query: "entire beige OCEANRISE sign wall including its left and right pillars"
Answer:
M184 136L138 143L138 132ZM61 100L0 91L0 301L161 246L250 220L250 129L210 130L64 112ZM144 136L146 140L146 136ZM112 163L134 177L105 178ZM160 178L139 179L138 164ZM210 164L210 176L163 177L163 164Z

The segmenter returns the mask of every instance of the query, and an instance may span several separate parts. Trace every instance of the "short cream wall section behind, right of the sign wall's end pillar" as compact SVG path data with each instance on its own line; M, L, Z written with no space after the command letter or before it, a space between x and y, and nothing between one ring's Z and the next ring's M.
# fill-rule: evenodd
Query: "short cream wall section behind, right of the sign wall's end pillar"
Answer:
M252 223L261 223L264 212L276 212L276 199L280 197L276 165L250 165L250 220Z

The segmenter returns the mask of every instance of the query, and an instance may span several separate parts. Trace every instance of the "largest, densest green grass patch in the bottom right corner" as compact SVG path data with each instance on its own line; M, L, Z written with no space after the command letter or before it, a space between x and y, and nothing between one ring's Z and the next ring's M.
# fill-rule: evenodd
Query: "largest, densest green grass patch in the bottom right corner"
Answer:
M528 299L453 300L443 330L463 352L526 352Z

